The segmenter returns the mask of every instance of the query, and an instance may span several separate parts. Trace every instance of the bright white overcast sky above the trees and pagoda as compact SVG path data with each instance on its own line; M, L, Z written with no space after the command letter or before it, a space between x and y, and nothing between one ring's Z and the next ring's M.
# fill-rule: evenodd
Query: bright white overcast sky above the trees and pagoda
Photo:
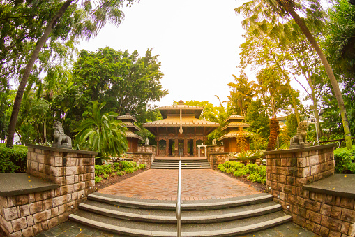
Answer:
M173 101L209 101L219 106L216 96L227 101L232 74L238 75L239 45L244 42L243 17L234 8L236 0L141 0L123 8L125 20L119 27L107 24L79 49L96 51L109 46L114 50L137 50L144 56L148 48L159 55L160 80L169 94L154 102L158 106ZM247 72L253 80L255 73ZM292 87L300 88L294 80ZM305 96L304 89L300 89Z

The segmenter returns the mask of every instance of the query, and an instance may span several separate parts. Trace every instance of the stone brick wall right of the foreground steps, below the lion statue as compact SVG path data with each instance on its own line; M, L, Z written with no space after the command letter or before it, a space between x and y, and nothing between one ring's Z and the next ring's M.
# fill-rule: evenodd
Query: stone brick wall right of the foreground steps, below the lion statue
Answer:
M354 199L303 188L333 175L333 147L329 144L265 152L266 189L301 227L320 236L354 236Z

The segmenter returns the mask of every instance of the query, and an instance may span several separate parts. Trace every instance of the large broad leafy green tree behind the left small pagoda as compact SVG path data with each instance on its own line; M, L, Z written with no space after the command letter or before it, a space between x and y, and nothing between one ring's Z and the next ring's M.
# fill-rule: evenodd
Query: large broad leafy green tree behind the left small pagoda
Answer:
M106 101L104 110L142 115L149 102L167 94L160 84L163 73L158 55L151 55L151 50L146 50L144 57L139 57L136 50L132 54L112 48L82 50L73 68L73 82L82 104Z

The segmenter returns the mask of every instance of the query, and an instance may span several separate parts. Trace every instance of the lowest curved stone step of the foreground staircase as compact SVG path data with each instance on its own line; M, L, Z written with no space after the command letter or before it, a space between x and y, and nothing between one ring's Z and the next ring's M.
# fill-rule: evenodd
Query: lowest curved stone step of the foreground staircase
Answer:
M175 237L176 224L152 224L139 221L116 219L84 210L78 210L69 215L70 220L80 222L86 226L103 229L116 234L126 234L130 236L159 236ZM182 236L202 237L202 236L236 236L246 234L260 229L273 227L292 220L290 215L278 211L257 217L250 217L243 220L232 220L221 223L208 224L183 224Z

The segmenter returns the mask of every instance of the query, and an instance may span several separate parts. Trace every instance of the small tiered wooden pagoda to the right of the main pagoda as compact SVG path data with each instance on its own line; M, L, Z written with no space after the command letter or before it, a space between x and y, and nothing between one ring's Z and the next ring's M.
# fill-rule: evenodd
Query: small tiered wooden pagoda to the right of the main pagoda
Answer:
M249 136L252 135L252 133L248 131L243 131L243 134L241 134L240 127L242 127L243 129L249 127L249 124L243 122L243 120L243 116L239 116L236 114L230 115L225 120L225 122L227 122L227 125L225 125L225 127L222 127L221 129L222 131L225 131L225 135L218 138L218 141L223 141L223 144L225 145L225 152L241 151L239 145L236 144L236 138L240 135L246 137L246 148L244 149L249 150Z

